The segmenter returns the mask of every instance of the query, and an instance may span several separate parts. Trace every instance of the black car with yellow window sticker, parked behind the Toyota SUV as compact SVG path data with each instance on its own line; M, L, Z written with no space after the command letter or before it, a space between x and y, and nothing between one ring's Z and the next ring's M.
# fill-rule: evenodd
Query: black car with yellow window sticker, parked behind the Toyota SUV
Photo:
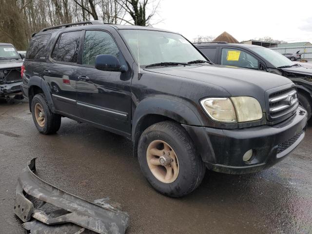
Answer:
M258 45L195 43L215 64L267 71L290 78L296 85L299 103L312 116L312 68L294 63L280 53Z

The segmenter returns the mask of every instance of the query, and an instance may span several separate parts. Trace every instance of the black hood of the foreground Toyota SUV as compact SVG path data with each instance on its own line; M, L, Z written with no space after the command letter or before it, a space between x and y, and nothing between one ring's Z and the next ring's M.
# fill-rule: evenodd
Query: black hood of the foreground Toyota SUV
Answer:
M145 70L214 84L225 89L232 96L255 97L257 96L255 94L259 93L262 96L269 89L292 83L290 79L279 75L222 65L175 66Z

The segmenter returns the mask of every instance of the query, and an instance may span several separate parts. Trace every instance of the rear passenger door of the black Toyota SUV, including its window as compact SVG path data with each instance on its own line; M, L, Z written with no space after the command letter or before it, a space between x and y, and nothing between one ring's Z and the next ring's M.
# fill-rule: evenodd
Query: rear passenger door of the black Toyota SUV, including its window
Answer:
M55 109L70 117L79 117L76 106L78 81L78 52L82 31L61 33L51 53L48 67L43 72L52 92Z

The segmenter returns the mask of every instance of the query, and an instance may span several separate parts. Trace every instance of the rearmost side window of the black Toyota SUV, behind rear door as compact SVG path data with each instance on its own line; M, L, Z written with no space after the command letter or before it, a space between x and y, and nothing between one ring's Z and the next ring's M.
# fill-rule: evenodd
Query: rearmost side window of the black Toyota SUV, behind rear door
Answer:
M47 57L47 45L51 34L35 36L29 45L26 59L45 59Z

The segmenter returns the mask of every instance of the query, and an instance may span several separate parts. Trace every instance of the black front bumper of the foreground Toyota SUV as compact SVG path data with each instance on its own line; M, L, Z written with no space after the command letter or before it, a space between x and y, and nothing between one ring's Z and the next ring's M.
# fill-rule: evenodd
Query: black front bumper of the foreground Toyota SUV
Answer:
M183 125L208 169L227 174L247 174L273 166L294 150L305 136L307 114L298 107L296 115L275 124L226 130ZM248 162L243 155L253 150Z

